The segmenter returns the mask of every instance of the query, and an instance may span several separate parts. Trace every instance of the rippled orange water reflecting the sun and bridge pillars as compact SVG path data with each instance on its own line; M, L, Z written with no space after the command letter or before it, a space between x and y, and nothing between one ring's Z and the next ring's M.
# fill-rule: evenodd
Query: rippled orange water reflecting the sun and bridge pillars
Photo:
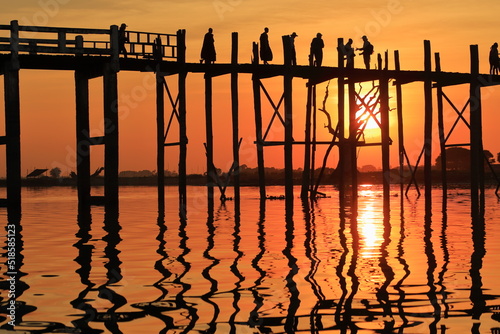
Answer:
M298 194L299 189L297 189ZM500 333L500 204L470 217L467 190L432 216L424 198L360 191L357 215L330 197L259 201L242 188L207 210L176 189L165 215L154 187L122 187L120 212L78 212L76 190L23 189L16 327L22 333ZM93 194L102 189L93 189ZM270 195L283 193L269 187ZM484 219L483 219L484 218ZM7 223L6 209L0 221ZM7 239L0 327L8 326ZM0 329L0 333L8 333Z

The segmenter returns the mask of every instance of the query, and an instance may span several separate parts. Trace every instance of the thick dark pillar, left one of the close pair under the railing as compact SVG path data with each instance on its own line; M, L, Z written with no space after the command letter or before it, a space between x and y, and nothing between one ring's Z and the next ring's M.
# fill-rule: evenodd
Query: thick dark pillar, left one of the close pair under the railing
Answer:
M76 97L76 175L78 204L90 206L90 121L89 77L85 70L75 71Z

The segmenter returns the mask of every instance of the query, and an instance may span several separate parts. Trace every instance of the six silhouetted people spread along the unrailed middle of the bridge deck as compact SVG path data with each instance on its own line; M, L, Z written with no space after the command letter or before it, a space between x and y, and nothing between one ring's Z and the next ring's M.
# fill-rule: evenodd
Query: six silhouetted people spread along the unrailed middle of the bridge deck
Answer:
M289 38L289 46L290 46L290 58L291 64L297 65L297 54L295 51L295 38L298 37L297 33L293 32L288 35ZM317 33L316 37L314 37L311 41L310 53L309 53L309 65L320 67L323 63L323 48L325 47L325 43L323 41L323 35L321 33ZM341 47L341 53L344 56L344 60L346 61L347 68L354 67L354 57L356 56L356 51L362 51L360 55L363 56L363 62L365 64L366 69L370 69L370 60L371 55L373 54L373 45L368 41L366 36L362 37L363 46L360 48L354 49L352 46L353 40L349 38L348 42ZM264 28L264 32L260 35L259 38L260 50L259 55L260 59L264 63L264 65L269 64L270 61L273 60L273 52L271 50L271 46L269 44L269 28ZM206 64L214 63L216 60L216 52L215 52L215 39L213 35L213 29L209 28L208 32L205 34L203 39L203 45L201 48L200 54L200 63L205 62Z

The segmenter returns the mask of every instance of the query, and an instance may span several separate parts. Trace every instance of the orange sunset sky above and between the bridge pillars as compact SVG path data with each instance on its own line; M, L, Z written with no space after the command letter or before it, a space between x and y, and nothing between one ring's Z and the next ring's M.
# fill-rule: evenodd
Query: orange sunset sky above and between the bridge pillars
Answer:
M452 4L452 5L451 5ZM353 0L344 4L331 1L244 1L244 0L186 0L186 1L81 1L81 0L19 0L3 4L0 23L8 24L19 20L21 25L43 25L56 27L108 28L112 24L126 22L129 30L145 32L175 33L178 29L187 31L187 60L197 62L201 41L208 27L214 29L217 62L228 62L230 57L231 32L239 33L239 59L250 62L251 45L257 41L265 26L270 29L270 44L274 52L272 63L282 62L281 36L295 31L298 63L307 63L311 39L317 32L325 41L324 65L337 63L336 41L338 37L353 38L354 46L360 47L360 37L366 34L375 46L375 52L388 50L391 55L399 50L403 69L423 68L423 40L431 40L432 51L440 52L442 69L451 72L469 70L469 45L478 44L481 72L488 72L488 51L496 35L497 13L500 3L494 0L475 2L463 1L414 1L414 0ZM360 67L360 57L356 67ZM119 73L120 107L120 169L156 169L155 135L155 90L150 84L151 74ZM167 80L176 78L167 78ZM264 80L266 88L276 100L282 93L281 78ZM3 83L0 83L3 90ZM102 126L100 79L92 80L91 128L99 135ZM188 75L188 171L202 173L205 169L204 136L204 92L202 76ZM318 86L318 103L323 98L325 85ZM335 112L336 85L331 85L329 108ZM468 94L468 87L448 88L457 108L462 109ZM483 89L484 147L495 156L500 152L496 140L500 90ZM423 136L423 92L420 83L403 88L405 112L405 144L413 159L421 150ZM394 92L391 91L394 96ZM229 77L214 78L214 143L215 165L229 169L232 163L229 146L230 102ZM305 112L305 81L294 80L294 138L303 138L303 114ZM272 109L263 99L264 123L267 125ZM391 100L395 107L395 100ZM0 107L3 115L3 106ZM168 110L168 108L167 108ZM455 120L454 112L447 107L449 126ZM397 165L397 133L395 111L391 112L391 165ZM60 167L63 175L75 170L75 104L73 73L55 71L21 71L21 117L22 117L22 169ZM168 114L167 114L168 117ZM467 115L468 117L468 115ZM4 128L0 119L0 133ZM240 136L241 163L256 166L253 101L251 79L240 76ZM318 118L318 138L329 139L322 128L324 118ZM278 125L276 123L276 125ZM460 129L463 127L460 126ZM468 142L467 134L460 129L450 143ZM373 131L372 131L373 133ZM437 132L434 156L438 153ZM172 133L175 138L175 132ZM279 127L274 128L275 139L282 138ZM367 133L367 136L370 136ZM271 138L270 138L271 139ZM266 165L281 167L283 149L267 148ZM103 148L93 147L92 168L102 165ZM319 152L319 158L322 153ZM4 161L5 148L0 147L0 162ZM336 164L336 152L332 166ZM294 168L302 167L300 148L294 151ZM359 154L359 165L380 166L380 148L364 148ZM318 162L319 163L319 162ZM167 149L166 167L177 168L177 150ZM0 163L0 177L5 176L5 164Z

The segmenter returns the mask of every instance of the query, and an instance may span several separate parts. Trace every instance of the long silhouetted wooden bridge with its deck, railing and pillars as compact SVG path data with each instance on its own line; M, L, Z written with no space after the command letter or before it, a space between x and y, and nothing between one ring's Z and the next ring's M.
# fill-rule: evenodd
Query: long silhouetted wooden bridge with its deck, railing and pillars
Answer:
M404 168L411 171L411 181L407 185L416 183L416 169L423 157L425 174L425 199L426 206L431 206L431 141L433 118L433 90L437 98L437 115L439 141L443 166L446 166L445 149L451 146L446 142L445 126L443 123L443 101L449 101L443 93L443 88L451 85L467 84L470 86L470 99L468 103L470 119L467 121L462 112L457 111L457 121L464 121L470 129L471 150L471 196L473 212L481 210L484 205L484 168L482 144L482 116L481 116L481 89L488 85L500 83L500 77L483 75L479 73L479 56L477 45L470 46L471 71L470 73L450 73L440 70L439 54L435 54L435 69L432 67L432 54L429 41L424 41L424 70L404 71L400 68L399 53L394 52L395 69L388 68L388 53L378 55L377 68L372 70L346 68L342 50L343 40L338 40L338 66L315 67L292 65L291 44L288 36L283 36L284 63L282 65L259 64L258 45L253 45L253 62L240 64L238 62L238 34L232 35L231 63L228 64L200 64L186 62L185 31L179 30L176 34L158 34L147 32L126 32L128 41L125 48L127 57L120 53L119 31L117 26L109 29L77 29L77 28L52 28L39 26L19 26L17 21L8 25L0 25L0 73L4 76L5 90L5 135L0 137L0 144L6 145L7 155L7 200L6 203L12 212L20 212L21 208L21 137L20 137L20 97L19 97L19 71L22 69L67 70L75 72L76 91L76 138L77 138L77 182L78 198L81 205L91 205L93 197L90 192L90 146L104 145L105 151L105 195L106 206L118 207L118 90L117 73L119 71L149 71L156 73L157 78L157 171L158 171L158 201L159 206L164 205L164 169L165 146L179 146L179 198L180 208L186 206L186 75L188 73L203 73L205 75L205 117L206 117L206 153L207 153L207 188L208 197L214 198L213 181L216 178L213 163L213 134L212 134L212 78L220 75L231 76L231 114L232 114L232 147L234 163L231 167L235 196L239 200L239 110L238 110L238 75L252 74L254 91L255 113L255 143L257 151L260 195L266 198L266 179L264 168L264 148L270 145L284 147L285 163L285 198L287 204L293 203L293 146L304 145L304 169L301 197L316 196L319 180L312 176L314 170L314 146L328 145L327 151L338 146L340 161L337 171L344 175L339 179L340 198L351 194L357 196L357 158L356 150L364 145L378 145L381 147L382 167L384 173L384 198L389 196L389 146L392 140L389 136L389 83L396 87L397 115L398 115L398 151L400 173ZM172 96L165 76L178 77L177 96ZM105 133L102 137L89 136L89 80L102 77L104 81L104 121ZM274 103L264 86L263 79L270 77L283 78L283 95L279 103ZM292 80L301 78L307 80L307 108L305 110L305 137L304 140L294 140L292 137ZM315 113L316 85L330 80L337 80L337 125L330 124L331 141L320 142L315 138ZM367 96L360 96L356 92L355 84L359 82L377 82L376 90L369 94L370 103L366 102ZM424 83L424 145L418 161L411 162L404 147L403 133L403 104L402 87L411 82ZM344 93L348 93L348 101ZM274 109L275 117L281 120L284 127L283 141L267 141L262 123L262 95L265 95ZM166 100L168 97L168 101ZM165 126L165 104L171 109L168 126ZM283 112L280 112L280 107ZM381 131L379 143L366 143L361 140L364 126L359 115L360 107L365 113L376 120ZM467 107L467 105L466 105ZM464 108L465 109L465 108ZM346 112L349 115L345 117ZM173 119L179 123L179 139L177 142L165 143L166 132ZM347 131L346 131L347 129ZM452 130L450 130L452 131ZM326 160L326 159L325 159ZM403 178L400 185L403 191ZM446 191L446 168L442 174L443 191ZM352 189L349 192L349 188ZM497 188L498 191L498 188ZM388 202L388 201L387 201ZM288 205L291 207L290 205Z

